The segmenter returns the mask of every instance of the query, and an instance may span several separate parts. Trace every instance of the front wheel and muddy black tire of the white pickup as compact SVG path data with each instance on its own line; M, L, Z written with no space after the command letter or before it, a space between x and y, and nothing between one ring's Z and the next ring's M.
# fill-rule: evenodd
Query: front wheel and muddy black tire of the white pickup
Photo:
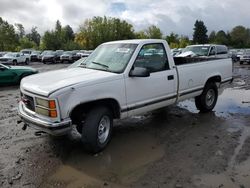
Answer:
M92 108L82 126L82 143L91 153L102 151L109 143L112 135L113 115L104 107Z

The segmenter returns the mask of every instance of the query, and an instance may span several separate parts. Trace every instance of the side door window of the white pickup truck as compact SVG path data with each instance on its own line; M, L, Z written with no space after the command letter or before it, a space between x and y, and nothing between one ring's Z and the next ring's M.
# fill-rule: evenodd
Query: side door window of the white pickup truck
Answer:
M134 67L146 68L150 73L168 70L168 59L163 44L144 45L135 60Z

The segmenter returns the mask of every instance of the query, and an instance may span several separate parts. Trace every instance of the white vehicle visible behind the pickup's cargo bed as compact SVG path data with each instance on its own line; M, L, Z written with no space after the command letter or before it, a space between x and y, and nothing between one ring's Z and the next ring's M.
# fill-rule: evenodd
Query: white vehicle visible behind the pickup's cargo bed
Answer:
M176 57L228 58L229 55L228 48L225 45L199 44L187 46Z

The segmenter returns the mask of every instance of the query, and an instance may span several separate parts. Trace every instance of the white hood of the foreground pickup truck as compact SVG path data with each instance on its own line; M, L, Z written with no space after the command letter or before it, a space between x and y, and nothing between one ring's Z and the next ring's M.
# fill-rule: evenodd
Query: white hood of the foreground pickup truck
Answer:
M21 89L48 97L51 93L81 83L96 84L113 80L117 74L93 69L71 68L25 77Z

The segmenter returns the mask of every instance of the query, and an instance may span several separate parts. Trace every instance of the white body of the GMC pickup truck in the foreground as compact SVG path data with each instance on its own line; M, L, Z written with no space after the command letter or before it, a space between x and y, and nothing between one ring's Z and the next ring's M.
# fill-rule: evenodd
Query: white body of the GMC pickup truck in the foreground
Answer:
M117 104L117 114L114 117L122 119L197 97L202 94L209 80L216 82L218 87L232 80L231 59L175 65L169 46L164 40L125 40L104 45L110 44L136 45L121 73L77 67L24 78L20 90L24 98L28 97L19 103L19 115L24 122L53 135L66 134L74 123L74 109L79 106L84 108L85 104L89 108L92 103L97 105L112 100ZM147 77L131 76L142 47L151 44L164 47L169 67L159 72L151 72ZM89 58L97 55L93 52ZM33 108L25 103L27 98L32 99ZM52 118L37 113L36 98L55 100L58 116Z

